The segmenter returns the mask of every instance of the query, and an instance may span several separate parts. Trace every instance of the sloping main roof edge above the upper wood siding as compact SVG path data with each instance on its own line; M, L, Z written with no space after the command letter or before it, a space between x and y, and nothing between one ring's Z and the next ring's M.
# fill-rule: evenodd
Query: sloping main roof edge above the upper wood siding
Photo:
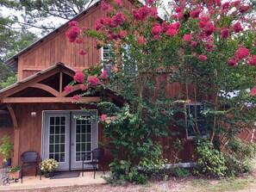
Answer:
M128 0L128 1L131 2L131 3L140 3L139 0ZM40 40L35 41L30 46L27 46L26 48L24 48L21 52L16 53L15 55L10 57L9 59L5 60L4 64L9 65L9 67L12 70L17 71L19 56L21 56L23 53L28 52L29 50L34 48L34 46L37 46L37 45L41 44L42 42L44 42L45 40L48 40L53 35L58 34L59 31L61 31L63 28L66 28L68 26L69 22L78 20L82 16L86 15L89 11L91 11L93 9L96 9L100 4L101 4L101 0L97 0L96 3L93 3L89 8L85 9L84 11L80 12L78 15L74 16L71 20L69 20L68 22L66 22L66 23L62 24L61 26L59 26L59 28L54 29L52 32L50 32L46 36L42 37Z

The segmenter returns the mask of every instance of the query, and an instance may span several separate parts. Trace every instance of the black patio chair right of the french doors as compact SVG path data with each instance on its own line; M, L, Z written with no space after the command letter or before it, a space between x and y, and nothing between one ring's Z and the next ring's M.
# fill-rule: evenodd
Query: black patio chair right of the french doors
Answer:
M91 161L87 161L88 157L91 157ZM97 165L101 164L103 173L105 175L105 170L104 170L104 166L103 166L103 157L104 157L103 148L97 148L97 149L92 150L91 152L87 152L87 154L84 156L84 159L83 159L82 176L84 177L84 164L92 165L93 171L94 171L94 178L95 178L95 172L97 170Z

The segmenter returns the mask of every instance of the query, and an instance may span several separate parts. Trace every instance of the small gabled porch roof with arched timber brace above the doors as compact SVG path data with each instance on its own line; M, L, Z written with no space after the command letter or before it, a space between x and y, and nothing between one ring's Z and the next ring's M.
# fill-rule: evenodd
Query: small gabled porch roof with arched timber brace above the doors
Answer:
M46 70L12 84L0 90L0 109L6 108L10 103L42 103L42 102L77 102L73 95L81 93L79 85L72 86L71 92L66 92L64 87L72 81L75 71L63 63L57 63ZM93 87L91 87L93 88ZM106 90L106 97L110 101L116 99L123 102L114 90ZM101 102L100 95L83 96L78 102Z

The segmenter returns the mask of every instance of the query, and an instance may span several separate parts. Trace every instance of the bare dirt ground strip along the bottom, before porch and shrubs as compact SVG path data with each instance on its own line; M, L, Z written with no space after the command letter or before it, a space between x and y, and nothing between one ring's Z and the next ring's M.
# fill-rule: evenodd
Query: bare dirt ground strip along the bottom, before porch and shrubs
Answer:
M256 192L256 170L249 177L241 177L233 180L234 183L242 183L233 189L225 186L226 180L201 179L199 177L170 178L167 181L147 183L146 185L133 185L114 187L110 184L97 184L85 186L70 186L45 189L15 190L21 192L208 192L208 191L238 191ZM210 188L209 188L210 186Z

